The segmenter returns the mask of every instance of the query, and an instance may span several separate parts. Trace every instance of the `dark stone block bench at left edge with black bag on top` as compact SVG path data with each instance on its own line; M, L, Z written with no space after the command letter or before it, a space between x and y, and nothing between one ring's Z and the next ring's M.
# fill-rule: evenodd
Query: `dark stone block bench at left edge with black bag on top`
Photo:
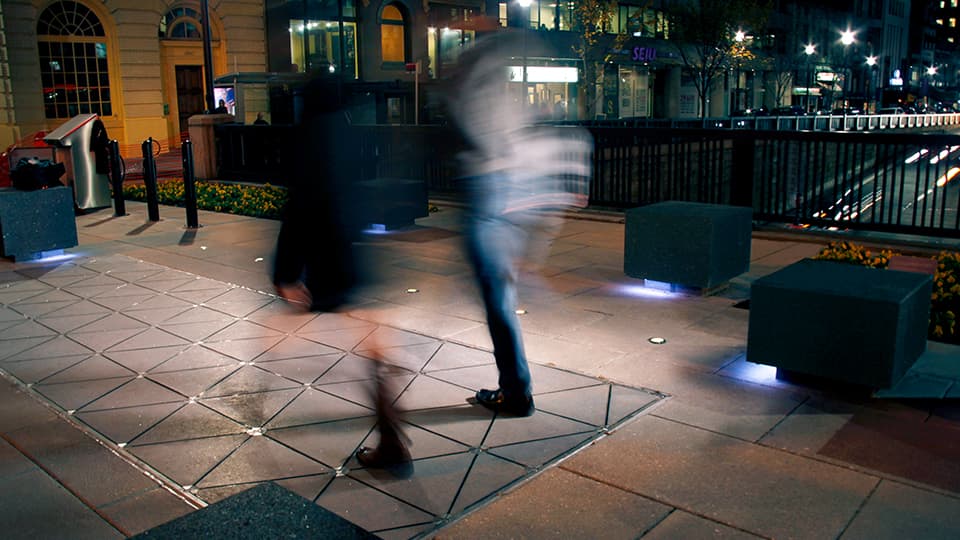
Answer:
M4 257L37 259L44 253L77 245L73 190L0 189L0 236Z

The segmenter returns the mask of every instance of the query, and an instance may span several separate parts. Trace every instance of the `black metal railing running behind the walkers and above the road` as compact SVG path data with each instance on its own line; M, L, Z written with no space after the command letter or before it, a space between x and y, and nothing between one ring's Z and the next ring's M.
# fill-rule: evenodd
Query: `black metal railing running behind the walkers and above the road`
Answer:
M283 185L282 126L219 126L219 177ZM361 177L415 178L457 191L462 143L439 126L357 126ZM665 200L750 206L757 220L960 237L960 136L589 126L590 205ZM259 139L257 139L259 137ZM237 149L240 150L237 150ZM271 150L273 151L273 150ZM272 160L272 161L271 161Z

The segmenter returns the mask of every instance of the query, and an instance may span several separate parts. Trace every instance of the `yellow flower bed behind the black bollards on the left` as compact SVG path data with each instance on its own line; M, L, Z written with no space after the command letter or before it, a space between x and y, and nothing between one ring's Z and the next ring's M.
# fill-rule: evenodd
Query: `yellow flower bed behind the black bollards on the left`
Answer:
M144 184L125 184L125 199L144 202L147 189ZM221 184L197 182L197 208L213 212L225 212L242 216L279 219L280 211L287 200L286 188L270 184ZM157 202L171 206L183 206L183 180L174 178L157 183Z

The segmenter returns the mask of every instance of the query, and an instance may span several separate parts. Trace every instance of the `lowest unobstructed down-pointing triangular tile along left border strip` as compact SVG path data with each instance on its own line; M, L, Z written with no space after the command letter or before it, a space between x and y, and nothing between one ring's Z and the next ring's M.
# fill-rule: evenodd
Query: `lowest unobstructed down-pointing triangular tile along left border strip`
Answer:
M205 437L147 446L132 446L130 453L147 465L186 487L233 452L249 435Z

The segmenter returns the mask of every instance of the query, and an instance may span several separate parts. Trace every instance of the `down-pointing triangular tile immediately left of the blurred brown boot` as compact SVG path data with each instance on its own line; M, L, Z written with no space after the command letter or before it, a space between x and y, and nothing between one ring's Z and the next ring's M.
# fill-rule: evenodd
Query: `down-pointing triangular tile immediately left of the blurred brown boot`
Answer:
M359 448L377 419L373 416L325 422L267 431L267 435L283 444L336 468L346 463Z

